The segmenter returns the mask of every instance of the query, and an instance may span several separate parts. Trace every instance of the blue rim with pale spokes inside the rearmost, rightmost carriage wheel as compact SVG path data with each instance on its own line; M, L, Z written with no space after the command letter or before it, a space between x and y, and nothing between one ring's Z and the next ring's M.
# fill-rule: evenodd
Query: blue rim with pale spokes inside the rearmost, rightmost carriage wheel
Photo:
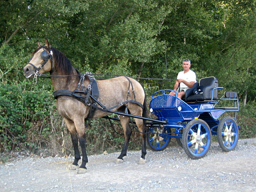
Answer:
M222 143L227 149L232 149L238 141L238 127L232 119L224 122L221 132Z

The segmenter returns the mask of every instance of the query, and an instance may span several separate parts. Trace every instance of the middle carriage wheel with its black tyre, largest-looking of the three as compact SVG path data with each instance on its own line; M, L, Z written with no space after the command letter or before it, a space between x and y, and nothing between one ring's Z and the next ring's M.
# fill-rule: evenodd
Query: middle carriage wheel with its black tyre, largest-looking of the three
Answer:
M194 119L184 128L182 136L183 149L192 159L203 158L210 149L211 141L211 130L202 119Z

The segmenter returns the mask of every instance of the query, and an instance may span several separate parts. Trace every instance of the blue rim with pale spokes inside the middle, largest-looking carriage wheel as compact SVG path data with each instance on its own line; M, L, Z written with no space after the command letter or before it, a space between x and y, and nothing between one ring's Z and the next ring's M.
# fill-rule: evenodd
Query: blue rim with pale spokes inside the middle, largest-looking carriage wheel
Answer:
M195 157L203 156L210 147L210 130L202 123L194 124L188 132L187 146Z

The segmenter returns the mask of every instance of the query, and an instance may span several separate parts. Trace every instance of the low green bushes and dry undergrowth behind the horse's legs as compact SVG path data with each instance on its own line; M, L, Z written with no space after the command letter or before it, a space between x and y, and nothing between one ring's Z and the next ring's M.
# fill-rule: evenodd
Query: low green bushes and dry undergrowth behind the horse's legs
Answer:
M116 117L111 114L110 116ZM124 144L122 126L106 119L93 119L86 128L88 154L115 152ZM120 134L118 134L118 133ZM129 149L140 147L140 135L134 131ZM0 151L29 149L43 155L73 154L73 146L63 118L58 114L50 92L26 91L0 84Z

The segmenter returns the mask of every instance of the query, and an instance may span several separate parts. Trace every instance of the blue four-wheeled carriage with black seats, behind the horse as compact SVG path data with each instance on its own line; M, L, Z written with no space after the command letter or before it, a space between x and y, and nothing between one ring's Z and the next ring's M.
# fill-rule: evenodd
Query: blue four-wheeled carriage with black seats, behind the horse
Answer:
M202 78L186 91L181 100L169 95L172 90L160 90L152 95L150 112L165 123L148 124L147 145L154 151L164 150L171 138L192 159L204 157L211 145L212 135L217 135L223 151L234 150L238 143L240 127L236 124L236 112L239 110L236 92L225 92L218 99L218 80L215 77ZM217 107L228 102L231 107ZM231 104L230 104L231 103ZM225 112L234 112L233 118L220 116ZM233 113L232 113L233 114Z

